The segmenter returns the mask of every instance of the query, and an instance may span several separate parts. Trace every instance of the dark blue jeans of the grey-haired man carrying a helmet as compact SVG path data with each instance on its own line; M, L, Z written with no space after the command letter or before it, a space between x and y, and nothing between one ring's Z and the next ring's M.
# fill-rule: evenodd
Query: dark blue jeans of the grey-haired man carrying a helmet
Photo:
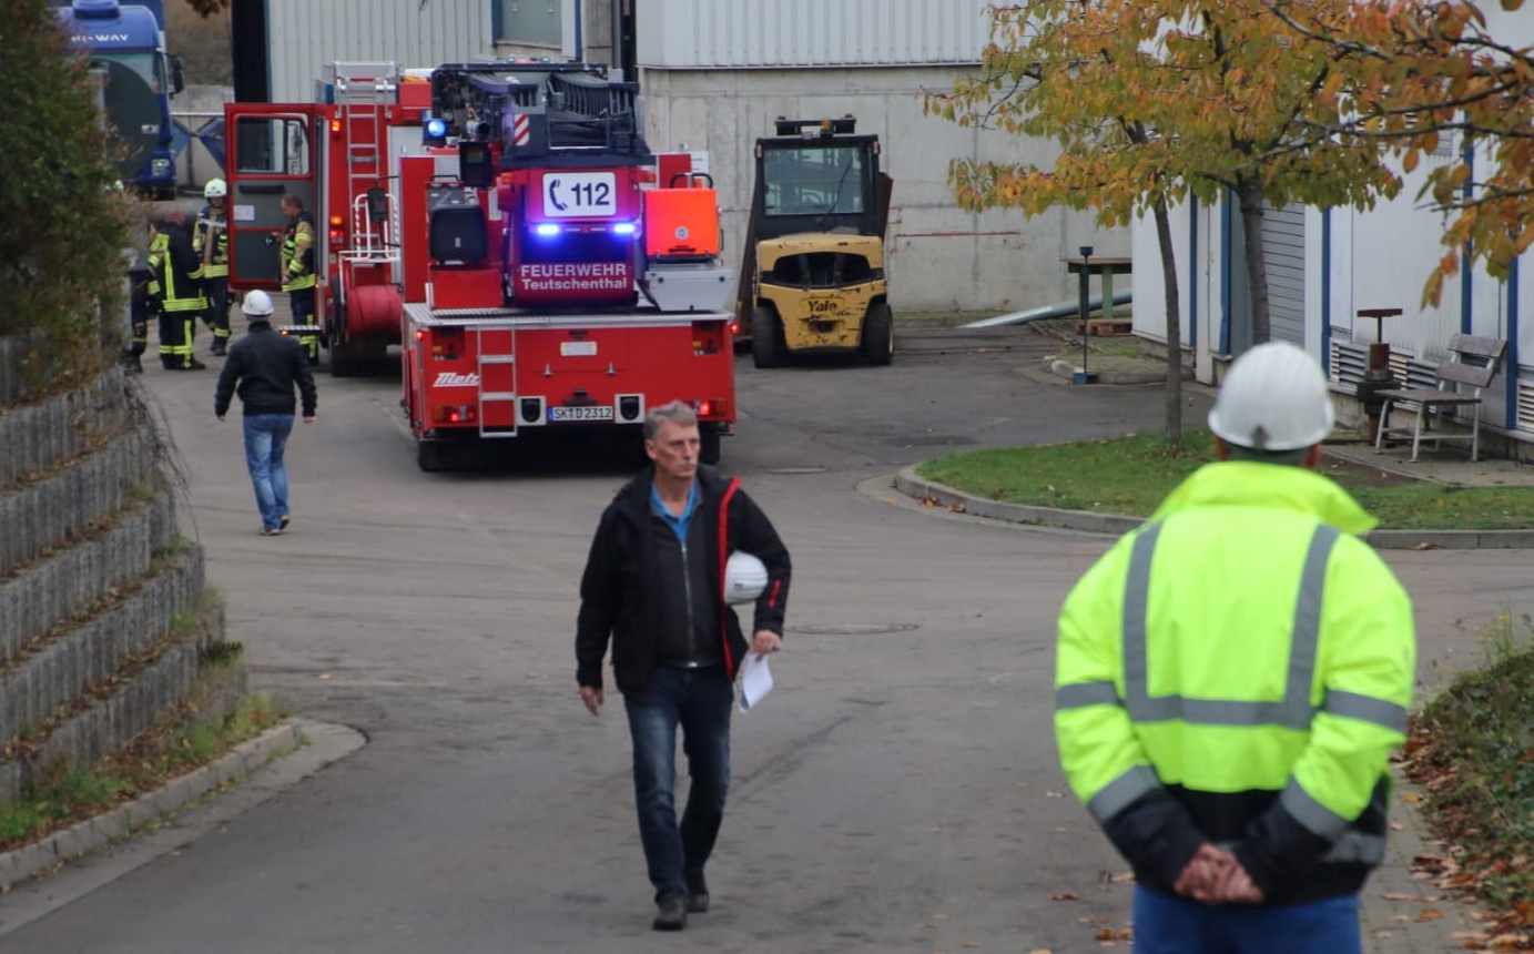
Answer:
M724 819L730 788L730 706L735 684L723 666L657 666L646 698L623 696L634 739L634 802L655 902L687 896L687 874L701 874ZM692 790L676 824L676 725Z

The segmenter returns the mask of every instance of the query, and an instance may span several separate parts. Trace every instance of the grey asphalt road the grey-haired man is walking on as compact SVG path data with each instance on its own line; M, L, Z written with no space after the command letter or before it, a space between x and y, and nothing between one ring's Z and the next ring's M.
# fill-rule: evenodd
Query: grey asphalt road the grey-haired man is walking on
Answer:
M1098 949L1131 893L1055 765L1051 646L1066 589L1109 541L885 488L951 448L1158 428L1161 390L1055 383L1035 371L1054 342L1026 328L913 331L899 348L890 368L739 360L723 469L778 525L795 584L778 689L735 716L713 910L681 936L649 929L621 702L594 719L574 683L577 580L632 449L422 474L397 380L322 376L319 420L290 443L293 528L262 538L213 370L147 371L184 459L184 532L207 548L253 684L370 742L9 934L0 899L0 948ZM1207 396L1190 403L1201 420ZM1531 606L1528 554L1390 560L1430 666L1474 661L1502 601Z

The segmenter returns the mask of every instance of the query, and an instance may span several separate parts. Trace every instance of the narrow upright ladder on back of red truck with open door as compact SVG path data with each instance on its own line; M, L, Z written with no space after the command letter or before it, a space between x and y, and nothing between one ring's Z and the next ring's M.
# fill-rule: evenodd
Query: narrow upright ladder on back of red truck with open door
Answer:
M399 207L384 181L384 137L399 95L396 63L334 63L336 118L351 199L351 245L341 258L357 265L393 265L399 255Z

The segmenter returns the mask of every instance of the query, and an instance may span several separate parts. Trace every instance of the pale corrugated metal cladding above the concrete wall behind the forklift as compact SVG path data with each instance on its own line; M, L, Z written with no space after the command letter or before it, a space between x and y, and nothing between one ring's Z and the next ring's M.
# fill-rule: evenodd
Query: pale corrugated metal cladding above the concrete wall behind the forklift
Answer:
M992 3L646 0L638 58L663 69L974 63Z

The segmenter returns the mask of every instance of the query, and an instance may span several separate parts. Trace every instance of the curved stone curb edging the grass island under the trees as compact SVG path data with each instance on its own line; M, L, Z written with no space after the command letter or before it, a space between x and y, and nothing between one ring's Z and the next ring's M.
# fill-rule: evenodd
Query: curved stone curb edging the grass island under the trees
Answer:
M963 508L965 514L976 517L1115 535L1127 534L1144 523L1144 517L1065 511L1051 506L1006 503L1003 500L976 497L974 494L956 491L951 486L917 477L917 466L920 465L902 468L894 475L894 488L897 491L917 500L936 500L950 509ZM1373 531L1364 535L1364 541L1374 549L1396 551L1534 549L1534 531Z

